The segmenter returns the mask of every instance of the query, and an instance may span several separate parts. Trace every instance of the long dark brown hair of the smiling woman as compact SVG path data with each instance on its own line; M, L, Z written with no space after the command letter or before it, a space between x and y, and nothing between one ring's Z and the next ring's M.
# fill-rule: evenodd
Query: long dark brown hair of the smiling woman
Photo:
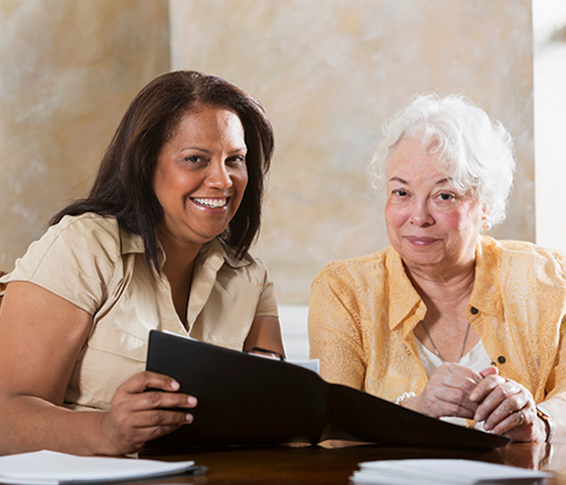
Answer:
M221 77L196 71L167 73L146 84L120 121L88 197L60 210L49 224L85 212L115 216L122 227L142 237L146 260L160 273L157 225L164 210L153 190L155 166L182 116L199 105L232 110L242 121L248 148L248 185L240 207L220 238L243 258L261 227L273 128L258 101Z

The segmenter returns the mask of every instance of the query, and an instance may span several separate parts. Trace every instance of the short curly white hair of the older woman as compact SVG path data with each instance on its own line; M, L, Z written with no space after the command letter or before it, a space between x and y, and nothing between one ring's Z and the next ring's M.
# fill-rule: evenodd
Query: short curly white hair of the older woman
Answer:
M369 164L376 189L385 193L389 157L409 138L436 155L438 170L456 189L475 190L486 208L484 230L505 219L516 170L513 141L499 121L492 121L465 96L417 96L385 124L383 134Z

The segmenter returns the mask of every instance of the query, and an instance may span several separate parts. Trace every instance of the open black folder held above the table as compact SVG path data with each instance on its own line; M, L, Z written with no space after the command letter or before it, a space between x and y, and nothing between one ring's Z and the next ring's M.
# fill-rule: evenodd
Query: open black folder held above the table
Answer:
M302 366L161 331L150 332L146 369L171 376L199 400L190 425L148 442L147 450L327 439L485 449L509 442L327 383Z

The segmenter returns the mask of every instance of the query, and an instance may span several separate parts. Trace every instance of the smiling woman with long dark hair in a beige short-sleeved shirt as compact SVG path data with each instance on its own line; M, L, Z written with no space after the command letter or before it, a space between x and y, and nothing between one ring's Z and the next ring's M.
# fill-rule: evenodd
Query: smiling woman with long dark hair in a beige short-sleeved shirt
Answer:
M90 195L0 281L0 454L127 454L189 425L197 400L144 371L152 329L283 352L248 253L272 151L260 104L217 76L137 94Z

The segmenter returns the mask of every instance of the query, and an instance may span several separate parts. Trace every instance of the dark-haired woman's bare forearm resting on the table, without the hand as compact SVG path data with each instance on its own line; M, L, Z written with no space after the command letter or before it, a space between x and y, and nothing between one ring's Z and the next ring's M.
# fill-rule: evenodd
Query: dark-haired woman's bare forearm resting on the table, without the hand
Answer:
M0 404L0 454L49 449L70 454L118 454L102 435L102 411L75 411L32 396Z

